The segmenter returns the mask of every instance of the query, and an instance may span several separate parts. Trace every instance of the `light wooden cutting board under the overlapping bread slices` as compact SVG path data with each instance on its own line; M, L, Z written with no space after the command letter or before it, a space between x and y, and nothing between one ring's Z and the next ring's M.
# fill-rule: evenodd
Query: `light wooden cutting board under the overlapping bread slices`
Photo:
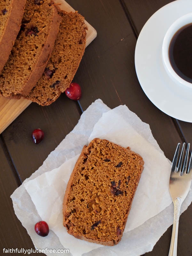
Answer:
M64 0L55 0L55 3L60 4L60 8L66 12L75 12L75 10ZM96 30L87 22L85 24L88 28L86 35L86 47L97 36ZM4 97L0 97L0 134L11 124L15 118L17 118L25 108L31 104L31 101L20 100L8 100Z

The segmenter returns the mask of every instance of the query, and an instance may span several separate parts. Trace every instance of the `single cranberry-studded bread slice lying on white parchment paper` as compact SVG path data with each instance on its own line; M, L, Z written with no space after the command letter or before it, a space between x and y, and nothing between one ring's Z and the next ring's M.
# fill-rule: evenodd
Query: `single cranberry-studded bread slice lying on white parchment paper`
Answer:
M63 225L89 242L115 245L123 235L143 170L140 155L108 140L84 146L63 200Z

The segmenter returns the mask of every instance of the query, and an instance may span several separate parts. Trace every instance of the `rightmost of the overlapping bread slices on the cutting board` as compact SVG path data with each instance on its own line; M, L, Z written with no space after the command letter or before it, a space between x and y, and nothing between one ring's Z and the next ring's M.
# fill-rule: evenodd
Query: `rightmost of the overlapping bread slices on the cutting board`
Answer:
M86 26L78 12L60 11L62 20L43 76L25 98L46 106L70 85L85 50Z

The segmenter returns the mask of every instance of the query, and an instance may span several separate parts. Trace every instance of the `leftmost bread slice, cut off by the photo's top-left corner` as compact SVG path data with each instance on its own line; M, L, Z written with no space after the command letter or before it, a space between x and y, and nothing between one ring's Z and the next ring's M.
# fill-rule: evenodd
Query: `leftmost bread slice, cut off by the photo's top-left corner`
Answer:
M0 1L0 72L19 33L26 0Z

